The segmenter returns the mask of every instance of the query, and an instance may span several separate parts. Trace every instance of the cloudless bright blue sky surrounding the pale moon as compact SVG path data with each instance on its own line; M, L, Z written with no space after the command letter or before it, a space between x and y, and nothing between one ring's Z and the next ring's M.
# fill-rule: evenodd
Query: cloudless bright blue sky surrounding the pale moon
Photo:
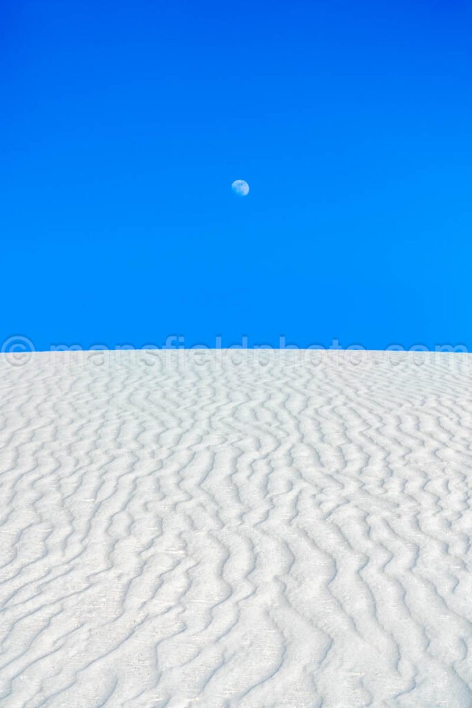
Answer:
M469 1L3 0L0 82L1 341L472 349Z

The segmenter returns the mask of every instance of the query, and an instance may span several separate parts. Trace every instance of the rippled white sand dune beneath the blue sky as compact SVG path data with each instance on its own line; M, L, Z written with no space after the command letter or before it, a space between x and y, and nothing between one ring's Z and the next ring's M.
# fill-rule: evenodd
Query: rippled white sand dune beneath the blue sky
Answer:
M259 356L0 360L2 706L472 706L472 357Z

